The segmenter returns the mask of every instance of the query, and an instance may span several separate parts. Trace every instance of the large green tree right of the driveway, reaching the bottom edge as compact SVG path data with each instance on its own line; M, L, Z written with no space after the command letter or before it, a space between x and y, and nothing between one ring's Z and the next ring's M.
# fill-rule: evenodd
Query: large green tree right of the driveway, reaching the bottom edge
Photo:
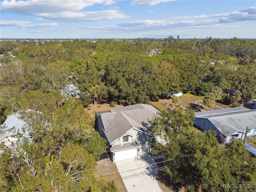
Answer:
M180 148L179 152L174 155L172 152L167 153L165 163L165 172L170 180L182 184L188 191L217 191L222 182L215 132L180 137L176 143ZM166 150L171 150L171 147L167 146Z

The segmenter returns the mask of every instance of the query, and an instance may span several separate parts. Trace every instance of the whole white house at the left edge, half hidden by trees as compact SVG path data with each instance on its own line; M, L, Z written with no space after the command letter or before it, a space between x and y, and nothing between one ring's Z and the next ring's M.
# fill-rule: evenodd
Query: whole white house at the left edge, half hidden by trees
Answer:
M13 148L15 147L15 142L18 140L17 134L32 142L33 138L29 135L25 126L26 122L20 119L19 112L9 115L1 125L0 142L4 142L8 148Z

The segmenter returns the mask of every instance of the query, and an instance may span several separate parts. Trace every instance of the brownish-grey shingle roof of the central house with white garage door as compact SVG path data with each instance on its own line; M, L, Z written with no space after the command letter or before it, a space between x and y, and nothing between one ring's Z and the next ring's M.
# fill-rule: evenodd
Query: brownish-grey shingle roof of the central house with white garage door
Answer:
M151 105L135 104L110 110L100 114L104 126L105 135L111 144L124 136L129 130L135 128L140 132L149 134L146 126L150 126L148 120L160 117L159 111Z

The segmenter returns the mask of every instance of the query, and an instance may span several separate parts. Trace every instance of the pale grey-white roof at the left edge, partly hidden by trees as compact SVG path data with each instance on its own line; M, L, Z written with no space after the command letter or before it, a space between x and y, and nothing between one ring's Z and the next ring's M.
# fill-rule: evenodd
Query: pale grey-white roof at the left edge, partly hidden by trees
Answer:
M0 133L0 141L18 133L22 134L23 137L30 138L27 129L25 129L26 122L20 119L19 112L9 115L1 126L4 130Z

